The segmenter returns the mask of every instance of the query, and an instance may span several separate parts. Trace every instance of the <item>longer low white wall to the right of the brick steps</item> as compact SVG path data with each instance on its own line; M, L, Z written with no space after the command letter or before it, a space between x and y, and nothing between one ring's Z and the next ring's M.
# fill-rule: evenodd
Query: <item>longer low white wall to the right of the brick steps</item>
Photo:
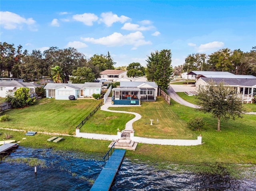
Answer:
M202 136L198 136L196 140L154 139L154 138L135 137L134 133L131 133L130 139L137 143L157 144L157 145L194 146L194 145L202 144Z

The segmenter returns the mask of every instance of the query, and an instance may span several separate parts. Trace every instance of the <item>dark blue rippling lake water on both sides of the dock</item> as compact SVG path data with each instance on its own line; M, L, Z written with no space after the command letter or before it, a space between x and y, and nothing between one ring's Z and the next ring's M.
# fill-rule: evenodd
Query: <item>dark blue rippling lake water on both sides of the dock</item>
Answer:
M0 163L1 191L89 191L104 162L73 153L19 147L8 158L38 158L47 167ZM124 159L111 191L255 191L256 179L173 173Z

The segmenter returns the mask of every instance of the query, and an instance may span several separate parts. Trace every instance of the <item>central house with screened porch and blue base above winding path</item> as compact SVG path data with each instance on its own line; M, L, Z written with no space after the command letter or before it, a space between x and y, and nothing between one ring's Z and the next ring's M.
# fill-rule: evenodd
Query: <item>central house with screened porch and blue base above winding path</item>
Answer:
M112 89L112 104L139 105L140 101L155 101L158 85L155 82L120 82L120 87Z

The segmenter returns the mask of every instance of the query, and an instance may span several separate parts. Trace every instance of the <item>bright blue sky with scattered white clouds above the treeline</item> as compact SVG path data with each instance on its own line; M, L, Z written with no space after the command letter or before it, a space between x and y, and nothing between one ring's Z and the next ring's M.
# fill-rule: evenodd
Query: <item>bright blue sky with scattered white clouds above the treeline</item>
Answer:
M115 67L171 49L172 66L192 53L256 46L256 1L1 0L0 41L22 50L74 47Z

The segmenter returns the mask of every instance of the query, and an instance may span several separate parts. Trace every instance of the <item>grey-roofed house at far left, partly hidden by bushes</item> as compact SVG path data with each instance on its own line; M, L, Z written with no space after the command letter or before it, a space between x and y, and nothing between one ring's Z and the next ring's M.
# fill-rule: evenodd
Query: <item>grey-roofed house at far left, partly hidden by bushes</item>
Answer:
M19 80L3 80L0 81L0 97L6 97L8 92L14 93L22 87L28 88L30 93L35 93L37 87L43 86L35 83L21 82Z

